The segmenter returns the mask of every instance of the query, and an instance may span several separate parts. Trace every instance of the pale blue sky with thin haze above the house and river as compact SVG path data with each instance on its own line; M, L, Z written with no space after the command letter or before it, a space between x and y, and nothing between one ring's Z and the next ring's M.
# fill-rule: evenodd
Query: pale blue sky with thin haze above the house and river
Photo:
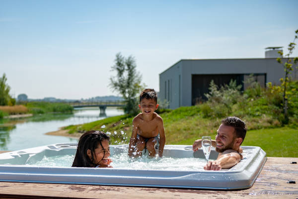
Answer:
M180 59L264 58L298 29L298 0L0 0L0 76L14 97L81 99L108 88L117 52L143 83ZM298 50L294 51L298 56Z

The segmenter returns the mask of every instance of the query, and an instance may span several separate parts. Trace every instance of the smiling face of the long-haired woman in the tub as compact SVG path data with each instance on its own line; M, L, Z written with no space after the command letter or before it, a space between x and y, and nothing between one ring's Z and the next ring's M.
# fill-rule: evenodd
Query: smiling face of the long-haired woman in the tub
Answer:
M100 143L98 143L97 148L94 150L93 159L95 166L100 165L105 167L110 164L110 161L108 160L110 156L110 145L108 140L102 140L101 144L103 148L101 147ZM88 156L90 157L90 155Z

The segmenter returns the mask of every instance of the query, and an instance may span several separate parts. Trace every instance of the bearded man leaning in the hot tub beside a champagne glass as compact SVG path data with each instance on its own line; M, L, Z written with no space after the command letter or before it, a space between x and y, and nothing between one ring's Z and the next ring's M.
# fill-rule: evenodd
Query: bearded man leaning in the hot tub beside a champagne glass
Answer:
M212 140L212 146L216 147L219 156L215 161L209 161L204 167L205 170L219 171L229 169L238 164L243 159L240 147L246 135L245 122L238 117L226 117L217 130L215 140ZM202 140L196 140L193 144L193 150L197 151L202 147Z

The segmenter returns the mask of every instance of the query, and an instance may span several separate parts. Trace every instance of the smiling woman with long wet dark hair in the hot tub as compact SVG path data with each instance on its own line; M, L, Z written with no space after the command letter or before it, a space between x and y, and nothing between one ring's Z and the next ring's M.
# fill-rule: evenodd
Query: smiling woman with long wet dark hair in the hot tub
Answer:
M112 167L110 137L102 131L87 131L78 141L72 167Z

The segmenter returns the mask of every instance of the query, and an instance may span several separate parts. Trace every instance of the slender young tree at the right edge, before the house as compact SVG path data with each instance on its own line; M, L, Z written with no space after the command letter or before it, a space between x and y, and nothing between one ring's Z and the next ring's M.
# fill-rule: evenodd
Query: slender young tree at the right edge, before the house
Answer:
M295 31L295 38L293 42L291 42L288 45L288 50L289 53L285 55L286 62L284 63L283 67L285 70L285 79L281 78L281 87L282 87L282 92L283 92L283 107L284 107L284 116L285 120L288 121L288 94L289 92L287 89L289 88L289 82L291 79L289 78L289 75L291 74L291 71L293 71L293 64L292 64L292 58L290 57L293 53L293 50L295 49L296 43L295 40L298 38L298 29ZM283 52L279 51L278 52L282 57L283 57ZM283 64L283 61L281 58L277 58L277 62L280 64ZM293 60L294 65L298 63L298 57L295 57Z

